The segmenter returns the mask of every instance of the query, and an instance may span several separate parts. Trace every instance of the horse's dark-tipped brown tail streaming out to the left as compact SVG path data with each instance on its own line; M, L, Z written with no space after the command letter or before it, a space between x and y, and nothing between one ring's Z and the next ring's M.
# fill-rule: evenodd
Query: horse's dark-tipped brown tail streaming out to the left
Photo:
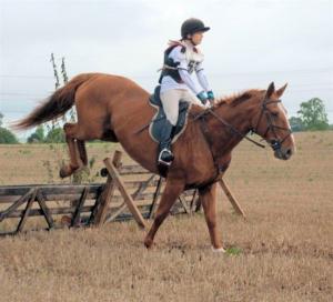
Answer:
M37 107L28 117L13 123L12 128L23 130L63 115L74 104L77 89L93 76L95 74L82 73L74 77Z

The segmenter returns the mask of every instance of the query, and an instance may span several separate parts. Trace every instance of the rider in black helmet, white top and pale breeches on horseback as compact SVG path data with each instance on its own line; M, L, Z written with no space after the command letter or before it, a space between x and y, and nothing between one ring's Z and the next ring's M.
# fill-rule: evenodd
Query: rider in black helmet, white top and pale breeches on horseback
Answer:
M167 114L165 125L160 142L159 163L170 165L173 154L170 150L172 130L176 125L180 100L189 103L208 107L214 101L202 67L203 53L196 48L201 43L203 33L210 30L195 18L185 20L181 27L181 40L170 41L164 51L164 64L160 77L160 98ZM191 73L195 71L198 83ZM195 97L196 95L196 97Z

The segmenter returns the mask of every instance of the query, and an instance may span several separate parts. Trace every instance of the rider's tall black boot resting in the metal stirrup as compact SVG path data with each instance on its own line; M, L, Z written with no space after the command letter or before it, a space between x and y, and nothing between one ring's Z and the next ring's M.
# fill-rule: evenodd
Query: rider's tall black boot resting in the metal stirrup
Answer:
M170 148L171 148L171 140L173 134L173 125L165 120L164 127L161 131L161 142L159 147L159 163L164 165L170 165L174 159Z

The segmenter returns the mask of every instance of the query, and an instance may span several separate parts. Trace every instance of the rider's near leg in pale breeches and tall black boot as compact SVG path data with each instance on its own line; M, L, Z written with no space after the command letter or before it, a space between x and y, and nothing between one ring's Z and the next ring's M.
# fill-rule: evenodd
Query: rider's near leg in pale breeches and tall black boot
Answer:
M172 89L161 93L162 105L167 115L165 124L162 129L162 138L159 148L159 163L170 165L173 161L171 152L172 130L176 124L179 114L179 100L181 90Z

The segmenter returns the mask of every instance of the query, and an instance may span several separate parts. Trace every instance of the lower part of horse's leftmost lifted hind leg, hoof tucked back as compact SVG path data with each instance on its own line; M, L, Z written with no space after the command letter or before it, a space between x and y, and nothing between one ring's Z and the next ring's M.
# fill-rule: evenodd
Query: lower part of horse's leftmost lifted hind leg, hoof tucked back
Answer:
M69 155L70 155L70 163L67 165L63 165L60 169L60 177L61 178L67 178L71 175L75 170L78 170L81 165L82 162L80 160L81 158L81 152L80 148L78 148L78 143L75 141L75 138L78 137L78 124L77 123L65 123L63 125L64 134L65 134L65 141L69 148ZM85 148L84 148L85 150ZM85 155L85 161L87 161L87 155Z

